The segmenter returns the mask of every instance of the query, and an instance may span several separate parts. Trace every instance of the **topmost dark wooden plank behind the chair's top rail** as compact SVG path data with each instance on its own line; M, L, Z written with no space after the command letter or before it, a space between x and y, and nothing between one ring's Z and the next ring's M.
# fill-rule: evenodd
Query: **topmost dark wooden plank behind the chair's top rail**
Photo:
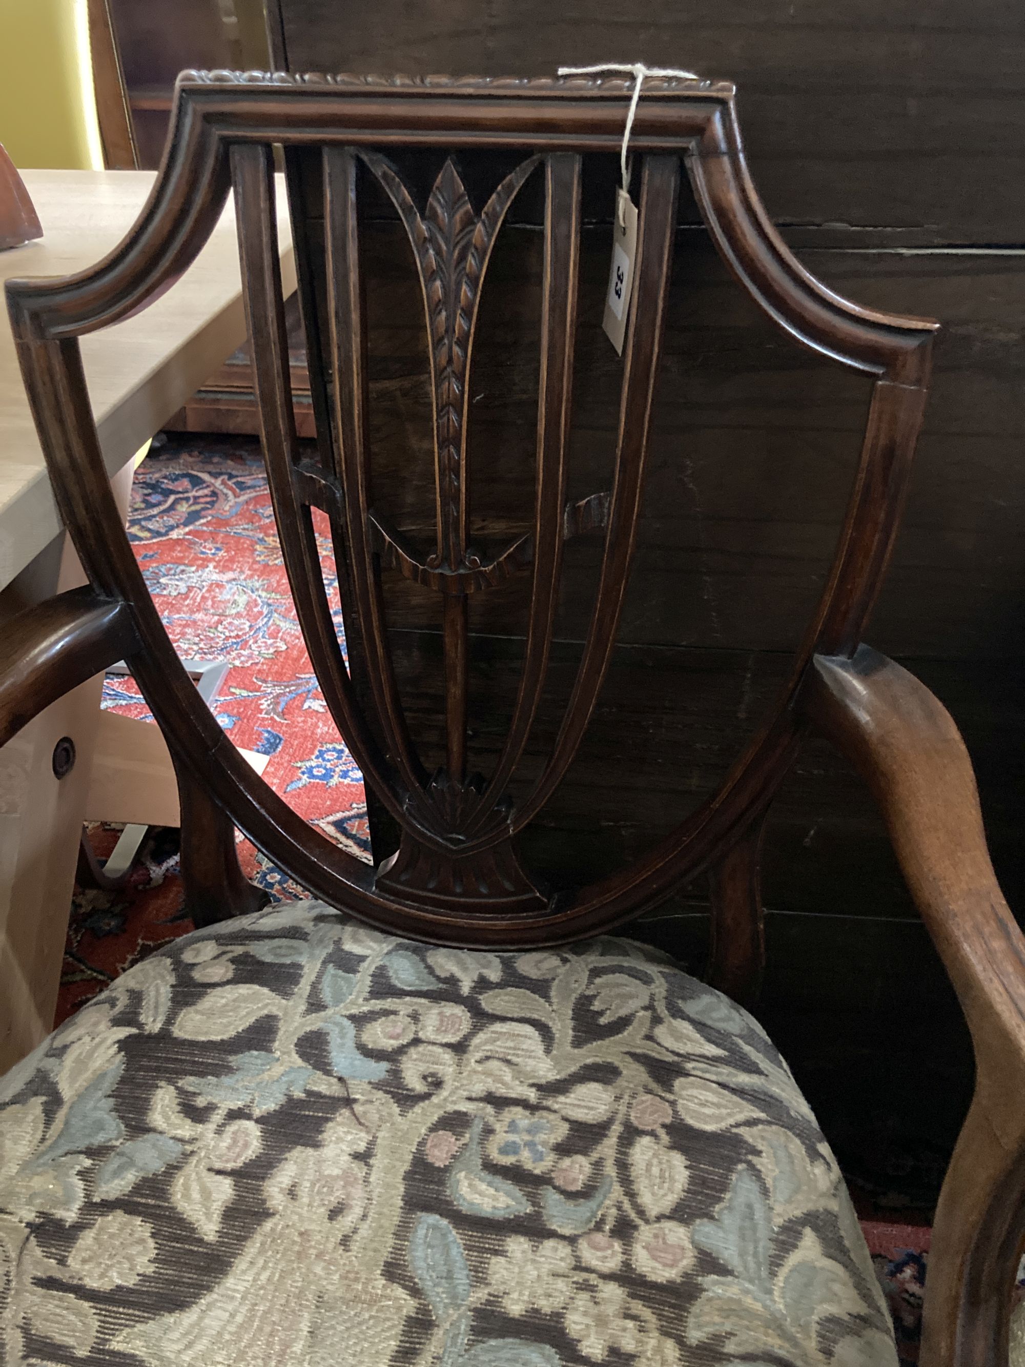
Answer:
M752 172L782 223L880 241L1020 243L1025 26L1017 0L615 0L346 8L280 0L292 71L554 75L642 59L737 82Z

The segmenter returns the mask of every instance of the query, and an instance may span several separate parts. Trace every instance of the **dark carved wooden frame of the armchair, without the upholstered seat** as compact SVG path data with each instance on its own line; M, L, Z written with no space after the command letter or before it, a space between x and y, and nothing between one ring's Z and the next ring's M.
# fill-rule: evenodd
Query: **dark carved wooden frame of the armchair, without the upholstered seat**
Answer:
M235 827L317 897L368 923L452 945L526 946L610 930L698 874L712 889L711 982L757 991L763 962L758 845L801 735L815 727L861 768L957 988L974 1040L974 1099L936 1215L922 1360L1007 1360L1009 1293L1025 1232L1025 940L989 864L970 763L932 694L861 644L897 532L922 417L933 323L860 309L819 284L763 209L743 160L734 90L652 79L631 146L641 161L634 306L610 491L567 504L567 440L579 250L581 157L619 150L622 79L291 77L184 72L172 138L128 236L78 276L11 282L8 308L51 480L90 580L29 610L0 647L0 742L60 693L124 658L171 748L182 797L182 868L197 923L260 905L235 856ZM273 146L292 197L317 457L301 452L288 385ZM394 149L484 148L522 163L476 213L446 161L425 211ZM303 156L321 157L327 286L314 283L299 205ZM709 234L760 308L800 342L872 377L860 465L821 600L778 704L719 791L653 850L571 895L547 895L514 838L566 774L593 712L629 578L659 369L676 191L690 178ZM484 560L467 543L467 372L480 287L517 191L544 176L544 286L533 533ZM407 545L372 506L358 183L373 176L414 249L430 339L437 543ZM153 607L113 499L78 338L145 306L191 262L234 190L262 442L279 536L306 645L339 730L402 843L379 868L306 826L238 755L195 689ZM328 375L332 377L328 381ZM368 689L357 699L324 582L312 510L331 519L346 633ZM567 537L600 529L604 556L569 708L521 802L507 797L548 666ZM381 574L440 593L446 764L428 774L410 740L388 655ZM530 615L510 731L491 778L467 771L467 596L511 574Z

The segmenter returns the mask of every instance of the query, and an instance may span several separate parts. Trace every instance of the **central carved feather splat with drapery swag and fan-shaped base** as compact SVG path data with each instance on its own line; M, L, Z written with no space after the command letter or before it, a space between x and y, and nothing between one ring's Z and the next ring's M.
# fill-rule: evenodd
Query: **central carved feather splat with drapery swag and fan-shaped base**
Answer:
M530 912L547 897L519 865L508 839L508 817L500 794L487 791L480 775L466 774L466 595L502 584L528 570L534 539L522 536L492 560L467 545L470 483L466 455L467 376L484 273L497 231L518 190L540 157L522 161L474 216L454 161L446 160L420 213L395 167L374 153L362 160L387 191L413 245L430 339L435 413L435 492L437 539L433 552L418 554L387 522L368 510L372 544L385 566L407 580L444 595L444 658L447 693L447 766L426 785L425 797L439 824L462 838L470 826L485 833L488 845L428 849L403 828L398 853L377 874L377 886L402 898L443 906L455 902L500 905L504 912ZM574 228L575 231L575 228Z

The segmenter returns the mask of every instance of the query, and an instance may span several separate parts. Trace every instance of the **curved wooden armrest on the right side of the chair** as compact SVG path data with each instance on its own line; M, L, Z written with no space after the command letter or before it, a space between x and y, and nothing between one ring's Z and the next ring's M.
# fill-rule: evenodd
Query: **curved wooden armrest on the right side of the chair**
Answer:
M1025 1236L1025 936L989 863L972 763L939 700L862 645L853 659L816 656L804 704L872 787L974 1046L974 1098L936 1210L922 1362L1006 1367Z

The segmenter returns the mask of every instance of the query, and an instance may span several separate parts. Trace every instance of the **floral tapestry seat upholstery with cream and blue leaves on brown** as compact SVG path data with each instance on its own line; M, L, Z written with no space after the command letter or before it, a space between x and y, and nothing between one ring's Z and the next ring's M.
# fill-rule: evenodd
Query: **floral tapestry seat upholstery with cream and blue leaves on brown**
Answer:
M0 1084L0 1360L894 1367L750 1016L623 939L318 902L175 940Z

